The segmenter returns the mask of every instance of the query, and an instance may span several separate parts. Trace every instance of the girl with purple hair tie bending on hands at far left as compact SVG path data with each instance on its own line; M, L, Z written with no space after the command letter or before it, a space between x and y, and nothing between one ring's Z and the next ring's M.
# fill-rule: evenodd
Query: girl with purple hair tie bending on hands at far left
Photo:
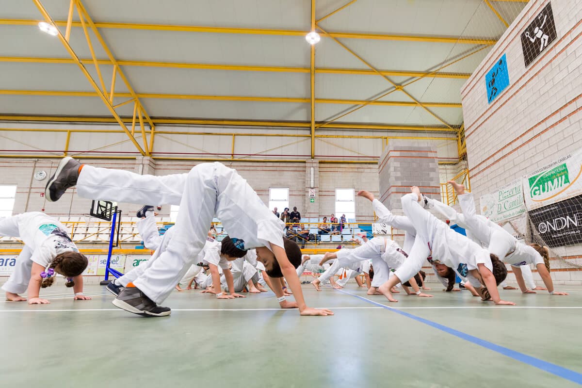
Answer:
M74 300L89 300L83 295L83 276L87 258L79 253L65 226L41 212L29 212L0 219L0 236L18 237L24 247L10 278L2 285L6 300L26 301L19 296L28 289L29 304L47 304L38 297L40 289L49 287L59 273L73 287Z

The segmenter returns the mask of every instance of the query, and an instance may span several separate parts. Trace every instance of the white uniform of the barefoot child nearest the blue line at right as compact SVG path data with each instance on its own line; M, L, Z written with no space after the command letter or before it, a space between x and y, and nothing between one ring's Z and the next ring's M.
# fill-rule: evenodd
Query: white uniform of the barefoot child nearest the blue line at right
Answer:
M458 275L467 277L471 285L480 287L480 282L469 271L478 269L478 264L484 264L492 271L489 252L425 211L417 200L414 193L406 194L401 199L404 214L416 227L416 239L408 259L396 269L396 276L404 281L416 275L432 251L431 264L441 262Z

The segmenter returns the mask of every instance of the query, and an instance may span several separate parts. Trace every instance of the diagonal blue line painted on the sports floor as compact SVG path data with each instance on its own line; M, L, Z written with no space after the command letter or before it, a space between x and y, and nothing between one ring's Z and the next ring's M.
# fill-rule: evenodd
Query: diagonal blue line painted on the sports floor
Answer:
M552 375L556 375L560 378L570 380L574 383L582 385L582 373L574 372L570 369L563 368L562 366L552 364L551 362L547 362L547 361L544 361L542 359L531 357L530 355L519 353L518 351L511 350L509 348L496 345L492 342L482 340L480 338L471 336L471 335L463 333L463 332L459 332L459 330L451 329L448 326L441 325L440 323L432 322L432 321L429 321L428 319L420 318L420 316L412 315L412 314L409 314L408 312L404 312L404 311L401 311L399 309L391 308L391 307L388 307L386 305L380 304L378 302L371 301L371 300L364 298L364 297L361 297L359 295L348 293L348 292L343 291L343 290L337 290L337 291L339 291L340 293L343 293L343 294L347 294L347 295L351 295L353 297L359 298L359 299L366 301L368 303L371 303L373 305L377 305L379 307L385 308L387 310L395 312L396 314L400 314L400 315L406 316L407 318L414 319L414 321L418 321L418 322L424 323L425 325L431 326L432 328L442 330L445 333L452 334L455 337L459 337L460 339L469 341L471 343L474 343L475 345L482 346L482 347L487 348L487 349L492 350L492 351L496 351L497 353L500 353L500 354L505 355L507 357L511 357L513 359L516 359L517 361L524 362L524 364L534 366L535 368L541 369L542 371L552 373Z

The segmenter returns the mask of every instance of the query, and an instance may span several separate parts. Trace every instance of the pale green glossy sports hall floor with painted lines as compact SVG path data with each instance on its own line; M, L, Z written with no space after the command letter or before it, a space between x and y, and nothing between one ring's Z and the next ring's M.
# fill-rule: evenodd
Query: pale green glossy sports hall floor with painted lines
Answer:
M468 291L433 298L368 297L303 286L301 317L274 294L217 300L173 292L172 315L115 308L104 287L73 301L60 285L49 305L0 303L2 387L574 387L582 383L582 287L570 296L501 290L516 307ZM389 308L384 307L389 305Z

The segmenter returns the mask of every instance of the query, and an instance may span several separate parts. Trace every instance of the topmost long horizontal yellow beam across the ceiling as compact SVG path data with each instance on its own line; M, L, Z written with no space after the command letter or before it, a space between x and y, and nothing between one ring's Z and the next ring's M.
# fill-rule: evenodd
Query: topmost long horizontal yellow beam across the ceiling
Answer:
M0 19L0 24L9 26L37 26L38 20L27 19ZM57 26L65 26L66 20L56 21ZM250 35L283 35L304 37L302 30L270 30L270 29L242 29L232 27L207 27L207 26L178 26L170 24L139 24L139 23L94 23L98 29L122 29L122 30L150 30L150 31L178 31L186 33L214 33L214 34L250 34ZM81 27L81 23L73 22L73 27ZM432 42L450 44L486 44L494 45L495 39L489 38L459 38L448 36L430 35L393 35L393 34L361 34L332 32L328 33L333 38L346 39L370 39L388 41Z

